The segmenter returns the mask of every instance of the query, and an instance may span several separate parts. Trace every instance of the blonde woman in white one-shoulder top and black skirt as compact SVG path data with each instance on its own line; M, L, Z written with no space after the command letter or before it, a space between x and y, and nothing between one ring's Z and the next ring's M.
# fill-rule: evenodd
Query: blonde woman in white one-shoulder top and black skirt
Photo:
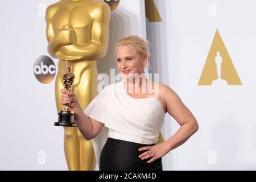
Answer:
M120 39L115 44L115 57L123 79L101 90L84 111L75 93L61 89L61 103L71 103L82 135L94 140L96 159L100 154L100 170L162 170L162 156L199 129L174 90L144 76L149 55L148 42L142 38ZM181 127L165 142L155 144L166 113ZM108 130L103 131L103 127ZM104 139L106 133L108 140ZM98 142L103 142L104 147L97 148Z

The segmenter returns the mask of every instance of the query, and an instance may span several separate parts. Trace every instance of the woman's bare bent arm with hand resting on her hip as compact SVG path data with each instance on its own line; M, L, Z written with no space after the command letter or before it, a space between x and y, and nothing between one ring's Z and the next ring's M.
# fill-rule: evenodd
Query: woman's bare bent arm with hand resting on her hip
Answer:
M139 155L139 158L142 160L151 158L148 160L148 163L161 158L169 151L179 147L199 129L196 118L183 104L180 97L177 96L174 90L167 85L159 85L159 96L164 101L168 113L177 121L177 123L179 123L181 127L165 142L156 144L155 146L139 148L139 151L146 150L146 152Z

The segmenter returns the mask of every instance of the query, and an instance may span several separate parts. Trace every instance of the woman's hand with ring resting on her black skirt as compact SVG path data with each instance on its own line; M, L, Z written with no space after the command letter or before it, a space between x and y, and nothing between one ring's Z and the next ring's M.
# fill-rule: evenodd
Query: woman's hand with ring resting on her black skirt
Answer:
M170 150L167 143L163 142L154 146L141 147L139 151L145 151L143 154L139 155L139 158L142 160L151 158L147 163L152 163L156 159L162 158L162 156L166 155Z

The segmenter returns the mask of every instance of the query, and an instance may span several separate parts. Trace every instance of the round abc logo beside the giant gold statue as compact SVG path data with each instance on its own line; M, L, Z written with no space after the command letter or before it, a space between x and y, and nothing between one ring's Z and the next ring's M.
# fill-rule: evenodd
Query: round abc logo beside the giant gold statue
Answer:
M48 56L39 56L34 64L34 73L36 79L43 84L51 82L56 73L56 67L53 60Z

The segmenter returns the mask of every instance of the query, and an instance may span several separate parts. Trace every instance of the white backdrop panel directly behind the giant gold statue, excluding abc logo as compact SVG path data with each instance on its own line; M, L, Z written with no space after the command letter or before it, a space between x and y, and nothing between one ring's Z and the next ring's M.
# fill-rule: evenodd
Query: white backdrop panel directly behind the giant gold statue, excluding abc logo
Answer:
M44 11L55 2L0 1L1 170L68 169L64 130L53 126L57 121L55 80L40 83L33 68L40 55L48 55ZM146 38L144 1L121 0L112 12L109 51L98 61L99 73L115 68L113 44L131 34Z

